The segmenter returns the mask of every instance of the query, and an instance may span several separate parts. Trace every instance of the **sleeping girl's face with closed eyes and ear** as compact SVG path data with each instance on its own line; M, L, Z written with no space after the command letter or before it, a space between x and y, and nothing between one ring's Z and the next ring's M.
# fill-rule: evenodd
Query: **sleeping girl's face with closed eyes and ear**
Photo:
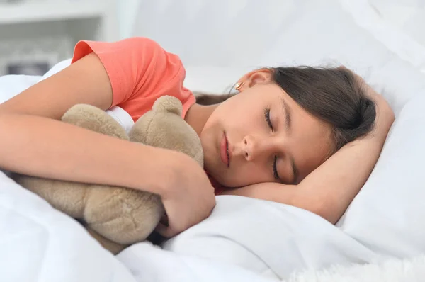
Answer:
M241 93L217 106L200 134L205 169L220 184L297 184L331 152L329 125L293 101L271 73L246 74Z

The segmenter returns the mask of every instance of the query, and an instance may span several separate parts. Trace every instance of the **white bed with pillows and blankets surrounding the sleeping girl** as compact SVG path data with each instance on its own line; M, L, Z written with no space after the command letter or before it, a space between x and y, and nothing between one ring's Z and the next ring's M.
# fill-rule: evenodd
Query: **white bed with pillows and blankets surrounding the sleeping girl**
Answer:
M265 65L344 64L361 74L390 101L397 120L373 174L343 218L331 225L289 205L217 196L210 218L181 235L161 246L135 244L113 256L78 222L1 172L1 281L420 281L425 276L425 74L419 67L425 48L365 0L259 3L142 1L132 35L153 38L181 55L185 84L193 91L222 93L246 70ZM0 102L67 64L43 77L0 77Z

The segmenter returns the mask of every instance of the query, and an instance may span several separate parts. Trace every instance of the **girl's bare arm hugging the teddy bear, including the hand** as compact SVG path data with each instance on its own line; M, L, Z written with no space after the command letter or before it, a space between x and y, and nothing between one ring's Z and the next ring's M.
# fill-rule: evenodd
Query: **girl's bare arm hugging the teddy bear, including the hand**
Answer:
M157 193L169 236L206 218L215 205L214 189L193 159L59 120L77 103L105 110L112 98L108 74L91 54L0 104L0 168Z

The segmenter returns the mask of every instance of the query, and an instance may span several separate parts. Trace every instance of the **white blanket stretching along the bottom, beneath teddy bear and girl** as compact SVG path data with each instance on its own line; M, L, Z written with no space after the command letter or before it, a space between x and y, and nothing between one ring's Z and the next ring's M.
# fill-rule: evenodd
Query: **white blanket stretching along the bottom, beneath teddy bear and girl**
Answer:
M1 281L267 281L379 259L317 215L237 196L217 197L208 220L163 249L144 242L115 257L77 221L0 174L0 222Z

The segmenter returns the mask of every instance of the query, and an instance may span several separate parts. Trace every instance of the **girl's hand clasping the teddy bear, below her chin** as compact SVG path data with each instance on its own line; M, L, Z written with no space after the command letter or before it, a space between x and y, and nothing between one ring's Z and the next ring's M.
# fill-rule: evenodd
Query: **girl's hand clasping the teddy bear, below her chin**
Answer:
M159 223L157 232L173 237L207 218L215 207L214 188L199 164L179 152L167 156L167 177L164 177L162 203L166 220Z

